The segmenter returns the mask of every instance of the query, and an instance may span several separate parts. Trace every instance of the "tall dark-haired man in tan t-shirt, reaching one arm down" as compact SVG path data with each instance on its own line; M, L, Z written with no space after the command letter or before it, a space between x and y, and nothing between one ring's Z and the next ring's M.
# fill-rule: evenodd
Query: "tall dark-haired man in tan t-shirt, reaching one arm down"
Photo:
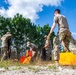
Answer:
M56 9L54 12L54 22L48 36L50 36L54 28L58 25L59 39L64 47L64 50L70 51L70 41L74 41L71 32L69 30L68 22L65 16L60 14L60 10Z

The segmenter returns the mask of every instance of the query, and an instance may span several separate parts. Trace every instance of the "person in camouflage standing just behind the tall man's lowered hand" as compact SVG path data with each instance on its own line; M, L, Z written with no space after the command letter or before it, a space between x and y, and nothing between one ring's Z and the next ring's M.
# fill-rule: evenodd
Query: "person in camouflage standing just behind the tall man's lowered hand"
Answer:
M46 60L50 60L52 58L51 50L52 50L52 44L50 39L47 38L47 35L44 36L45 38L45 45L43 48L46 50Z

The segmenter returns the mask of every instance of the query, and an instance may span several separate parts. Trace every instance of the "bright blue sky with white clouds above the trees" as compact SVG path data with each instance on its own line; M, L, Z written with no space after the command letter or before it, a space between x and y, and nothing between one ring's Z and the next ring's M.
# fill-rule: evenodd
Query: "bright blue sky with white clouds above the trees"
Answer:
M13 18L20 13L40 26L52 26L53 13L57 8L66 16L69 29L76 39L76 0L0 0L0 15ZM54 31L57 33L58 27Z

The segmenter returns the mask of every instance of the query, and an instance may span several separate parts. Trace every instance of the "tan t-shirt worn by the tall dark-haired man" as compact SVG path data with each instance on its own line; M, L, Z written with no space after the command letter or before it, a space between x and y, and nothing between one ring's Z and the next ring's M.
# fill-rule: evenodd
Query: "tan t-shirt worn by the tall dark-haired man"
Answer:
M54 17L54 22L58 24L59 33L69 30L68 22L65 16L56 15Z

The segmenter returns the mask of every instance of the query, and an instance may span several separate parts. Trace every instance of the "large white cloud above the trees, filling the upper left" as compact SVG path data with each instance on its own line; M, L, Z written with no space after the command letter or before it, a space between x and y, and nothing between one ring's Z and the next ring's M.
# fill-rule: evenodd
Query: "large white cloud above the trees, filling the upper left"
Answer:
M8 9L0 8L0 14L5 17L13 17L16 13L22 14L35 22L39 18L38 12L45 6L58 6L63 0L5 0L10 6Z

